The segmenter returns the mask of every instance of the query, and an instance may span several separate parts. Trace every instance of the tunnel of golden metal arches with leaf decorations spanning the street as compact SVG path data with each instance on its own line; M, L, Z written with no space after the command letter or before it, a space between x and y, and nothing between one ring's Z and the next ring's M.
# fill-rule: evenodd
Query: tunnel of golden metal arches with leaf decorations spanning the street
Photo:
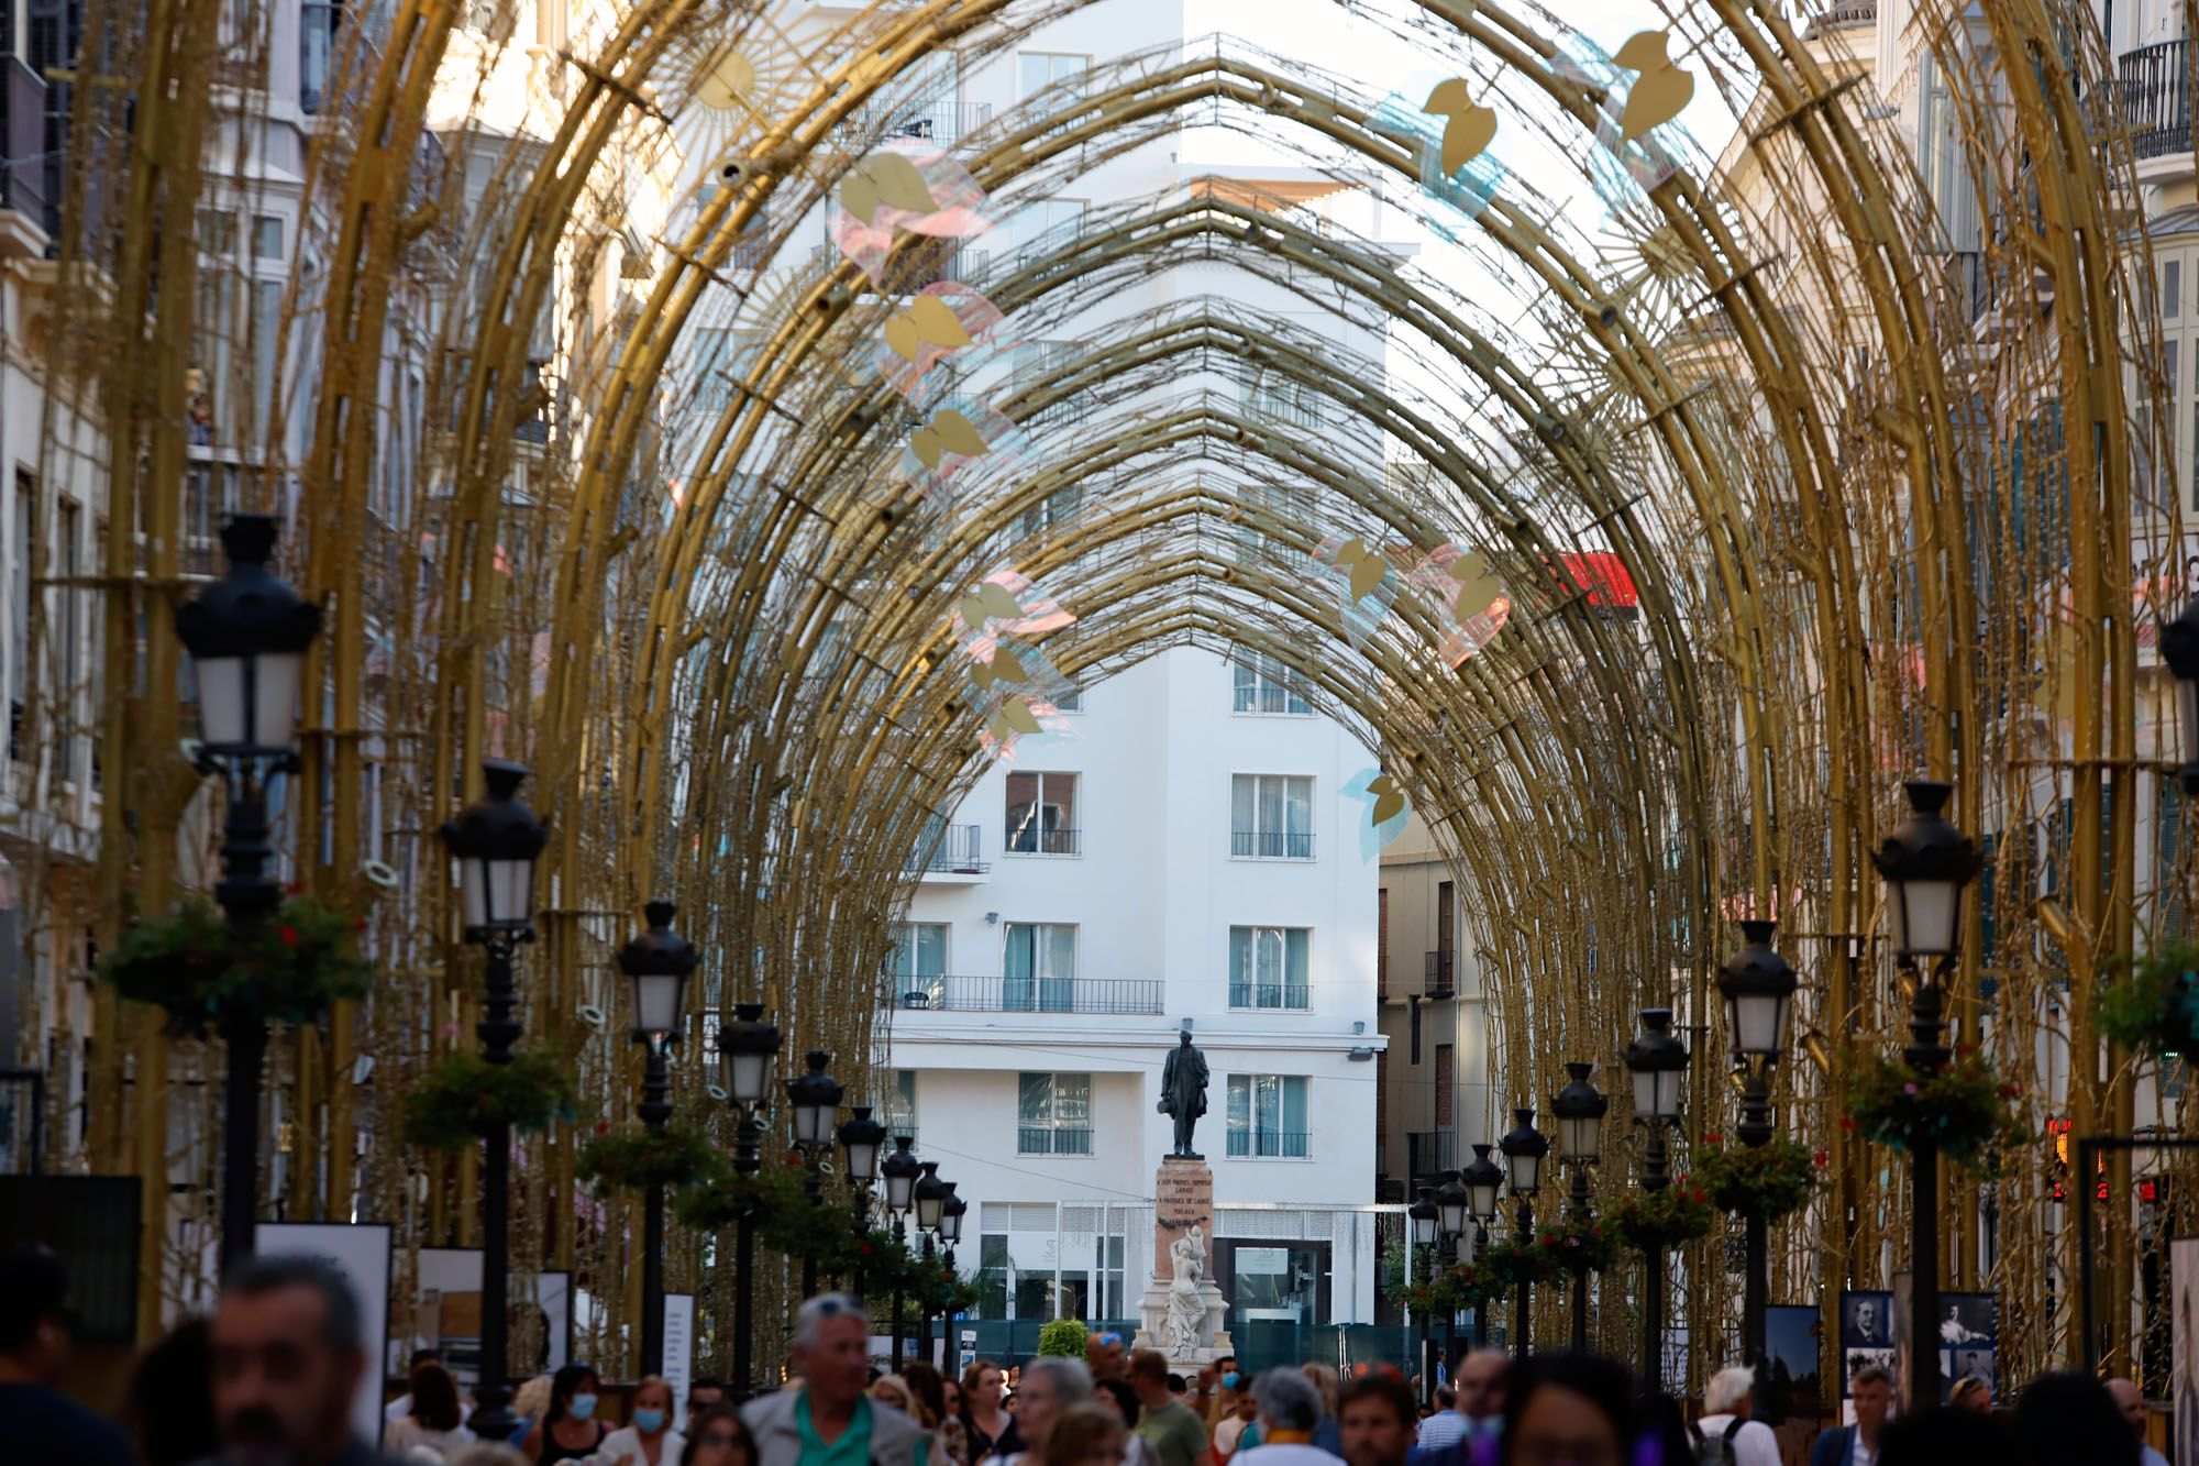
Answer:
M286 517L290 572L328 608L286 819L299 880L372 907L380 962L367 1002L277 1041L264 1175L286 1215L387 1217L409 1248L479 1226L471 1158L431 1184L391 1114L471 1035L479 980L429 832L479 792L484 755L537 768L554 843L523 1013L530 1043L576 1054L589 1118L631 1092L609 955L658 891L708 953L708 1017L761 999L789 1052L875 1068L873 973L908 854L990 757L1001 702L954 616L998 570L1073 612L1031 645L1075 685L1165 645L1253 647L1379 751L1467 894L1506 1094L1610 1061L1638 1006L1676 1004L1706 1030L1687 1140L1709 1145L1726 1103L1709 980L1748 911L1779 916L1825 1052L1889 1043L1904 1006L1865 856L1900 779L1931 773L1994 856L1957 1037L2038 1120L2177 1125L2155 1068L2091 1026L2093 991L2179 920L2192 872L2166 685L2140 645L2184 594L2177 495L2151 493L2170 398L2089 22L2043 0L1915 18L1951 97L1953 194L1920 176L1838 26L1742 0L1667 15L1671 55L1739 117L1720 158L1671 125L1625 136L1627 73L1531 4L1346 7L1533 139L1559 165L1539 187L1443 169L1416 99L1401 123L1379 86L1304 57L1231 37L1102 57L1078 95L948 150L985 200L1045 198L1196 119L1381 189L1480 273L1192 187L954 284L1009 328L1051 326L1141 273L1223 262L1308 315L1383 321L1392 361L1440 390L1198 291L987 392L1016 449L943 475L869 365L943 253L895 236L895 284L875 288L831 251L796 266L789 220L842 196L882 145L877 106L928 57L1003 55L1075 9L789 20L666 0L574 15L530 48L508 13L402 0L330 31L317 121L277 158L251 139L284 62L253 35L284 37L288 11L86 7L55 275L26 341L51 394L42 475L97 480L110 528L95 572L44 564L31 641L75 625L57 597L79 594L101 641L81 689L46 654L57 691L26 718L97 740L108 773L70 856L86 876L42 856L24 878L26 949L57 973L44 1026L95 1039L70 1164L145 1184L145 1330L202 1286L189 1195L213 1164L216 1085L196 1083L213 1059L112 995L81 1013L57 995L86 936L106 947L125 913L207 880L167 621L200 568L178 484L207 464L235 469L237 506ZM512 73L526 121L490 125ZM220 84L183 84L198 75ZM235 293L178 220L275 163L299 180L297 249L253 282L273 295ZM693 172L706 192L638 218L638 189ZM1973 260L1944 247L1951 196L1992 220ZM697 370L697 341L728 326L745 350ZM251 385L253 352L301 385L259 381L262 407L231 416L222 372ZM1328 403L1335 436L1170 394L1247 363ZM1047 416L1062 403L1073 431ZM1253 491L1273 482L1302 489ZM1080 511L1029 530L1064 493ZM1383 561L1372 616L1339 594L1339 544ZM1462 658L1412 575L1447 555L1478 557L1511 601ZM1638 627L1561 572L1579 555L1623 561ZM378 894L385 865L396 889ZM708 1109L706 1083L682 1065L682 1107ZM1900 1266L1907 1235L1902 1164L1843 1134L1841 1098L1838 1061L1781 1065L1781 1125L1832 1184L1775 1230L1775 1294L1827 1308ZM576 1131L521 1167L515 1257L618 1274L640 1224L576 1193ZM1625 1184L1605 1171L1601 1189ZM1946 1182L1942 1281L1999 1294L2010 1378L2078 1356L2065 1180L2038 1145L1983 1189ZM2140 1237L2131 1208L2102 1215L2115 1305L2098 1323L2129 1367ZM677 1235L673 1286L712 1248ZM1720 1270L1717 1239L1682 1266ZM778 1259L767 1274L770 1303L787 1277ZM1634 1288L1614 1272L1599 1294L1614 1354L1632 1352ZM1687 1294L1698 1371L1720 1363L1726 1292ZM712 1347L732 1327L717 1303ZM616 1356L638 1286L605 1305L592 1347Z

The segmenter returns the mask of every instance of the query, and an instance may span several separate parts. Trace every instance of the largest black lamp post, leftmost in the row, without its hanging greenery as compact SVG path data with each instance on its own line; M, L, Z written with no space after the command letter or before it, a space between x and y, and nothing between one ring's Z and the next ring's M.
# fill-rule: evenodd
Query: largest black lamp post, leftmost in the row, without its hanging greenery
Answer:
M299 599L268 570L275 519L231 515L222 526L229 570L176 608L176 636L198 678L200 773L229 786L222 828L222 878L213 898L231 927L255 927L281 905L268 874L266 784L297 768L297 702L306 647L321 630L321 608ZM266 1024L222 1024L229 1059L222 1096L222 1266L253 1250L259 1195L259 1079L266 1068Z

